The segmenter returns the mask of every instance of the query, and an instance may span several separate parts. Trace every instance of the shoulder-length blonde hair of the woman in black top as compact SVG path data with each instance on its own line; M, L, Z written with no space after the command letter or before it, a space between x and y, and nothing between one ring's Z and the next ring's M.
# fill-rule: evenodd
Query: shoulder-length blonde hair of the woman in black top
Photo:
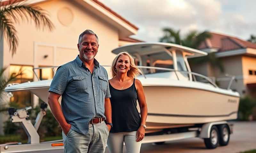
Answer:
M112 74L112 77L116 77L116 68L115 68L115 66L116 66L116 62L117 62L118 58L119 58L121 55L127 55L127 56L129 57L129 59L130 59L130 70L128 70L127 76L134 78L134 77L140 75L140 74L141 74L141 71L140 71L140 69L135 65L134 59L132 58L132 56L131 56L129 53L127 53L127 51L125 51L125 50L122 50L122 51L123 51L123 52L121 52L121 53L119 53L118 55L116 55L115 59L114 59L113 62L112 62L112 66L111 66L111 74Z

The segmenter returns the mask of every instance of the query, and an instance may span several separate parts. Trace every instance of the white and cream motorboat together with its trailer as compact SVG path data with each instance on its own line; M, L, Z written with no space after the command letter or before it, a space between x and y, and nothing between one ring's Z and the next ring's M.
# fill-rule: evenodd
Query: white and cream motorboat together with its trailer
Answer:
M142 72L137 79L143 85L148 106L146 136L142 143L200 137L204 139L207 148L216 148L218 143L213 142L217 139L221 140L220 145L228 144L233 130L226 120L237 118L240 95L230 90L234 77L231 78L228 89L221 89L209 77L191 72L188 58L205 56L206 52L172 43L143 42L118 47L112 53L123 51L134 57ZM55 73L58 67L51 68ZM36 69L44 68L34 68L34 72ZM47 104L52 79L40 80L36 73L35 75L38 81L10 84L4 91L9 96L15 91L31 91ZM0 145L0 152L15 152L22 147L26 151L35 151L36 148L41 148L37 151L63 150L62 140L39 143L37 129L46 107L47 105L41 106L34 126L24 116L28 108L9 110L13 122L22 122L29 144ZM20 118L19 113L24 117Z

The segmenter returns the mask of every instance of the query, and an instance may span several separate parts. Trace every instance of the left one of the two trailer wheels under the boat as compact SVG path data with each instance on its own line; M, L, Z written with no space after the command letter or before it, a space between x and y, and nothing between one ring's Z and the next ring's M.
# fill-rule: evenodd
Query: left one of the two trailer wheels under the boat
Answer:
M212 126L210 138L204 139L204 144L208 149L214 149L218 147L219 143L219 130L216 126Z

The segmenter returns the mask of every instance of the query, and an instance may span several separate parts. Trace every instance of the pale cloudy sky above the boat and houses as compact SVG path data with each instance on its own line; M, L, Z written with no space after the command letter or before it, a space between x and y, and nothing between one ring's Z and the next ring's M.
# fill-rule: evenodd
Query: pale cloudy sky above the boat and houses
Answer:
M131 36L159 41L162 29L222 33L243 40L256 35L256 0L100 0L139 30Z

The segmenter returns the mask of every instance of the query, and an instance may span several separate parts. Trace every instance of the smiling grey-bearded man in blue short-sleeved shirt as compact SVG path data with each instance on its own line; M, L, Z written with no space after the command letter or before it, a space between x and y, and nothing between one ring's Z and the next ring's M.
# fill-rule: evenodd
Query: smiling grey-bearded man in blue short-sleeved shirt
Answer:
M48 103L63 130L65 153L104 153L112 120L108 74L94 59L98 36L85 30L77 47L76 59L57 69Z

